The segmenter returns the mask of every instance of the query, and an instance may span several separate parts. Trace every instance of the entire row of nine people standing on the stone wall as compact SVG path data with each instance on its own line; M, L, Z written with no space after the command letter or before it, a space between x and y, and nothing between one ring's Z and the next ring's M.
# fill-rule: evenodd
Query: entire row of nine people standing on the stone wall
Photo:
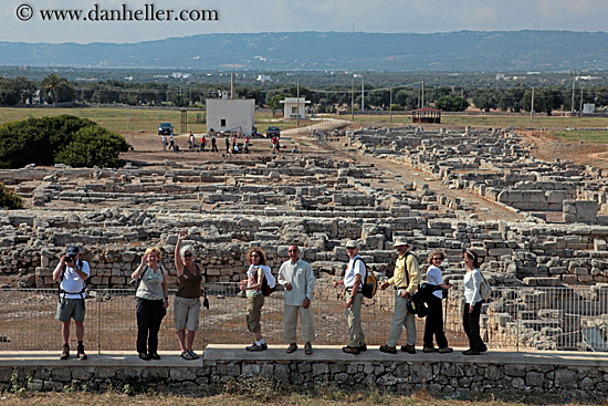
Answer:
M174 301L175 329L179 341L181 357L197 360L199 355L192 350L196 332L199 329L201 311L202 279L201 267L193 262L195 249L187 244L182 247L186 231L180 231L175 247L175 266L177 270L178 291ZM389 287L395 289L395 309L387 343L379 351L388 354L397 354L397 343L402 327L406 327L406 345L401 351L416 354L416 315L411 309L411 298L419 289L421 272L417 257L410 251L410 244L403 238L396 238L392 247L398 253L395 263L394 275L380 285L381 290ZM364 300L363 284L367 269L359 256L357 241L349 240L346 243L346 252L349 257L344 278L334 281L334 287L344 289L346 321L348 325L348 344L342 350L349 354L359 354L367 351L365 333L361 327L361 304ZM249 269L247 279L242 280L240 288L245 292L247 327L253 334L253 344L247 346L247 351L260 352L268 350L268 344L262 336L261 314L264 305L264 296L270 294L276 283L284 288L283 326L284 337L287 344L286 353L297 351L296 327L297 320L302 324L302 339L305 354L313 353L315 336L314 315L312 302L314 300L315 275L311 264L300 258L300 247L291 244L287 248L289 260L283 262L275 279L269 266L266 254L260 247L249 250L247 258ZM161 251L158 247L146 249L137 269L132 273L134 281L138 282L136 290L136 316L137 316L137 353L141 360L160 360L158 355L158 332L169 305L167 270L160 264ZM464 355L478 355L488 351L480 335L480 314L482 298L480 284L482 275L479 270L478 254L471 250L463 252L463 261L467 273L464 285L464 311L462 324L469 339L469 350ZM427 299L428 315L424 325L424 339L422 352L451 353L448 340L443 331L442 298L443 291L452 288L442 279L441 262L445 259L441 250L434 250L429 256L427 270L428 285L432 287L432 293ZM70 357L70 324L74 319L76 336L78 341L77 356L86 360L84 353L84 315L85 315L85 281L90 275L90 266L80 259L77 247L69 247L65 256L53 271L53 279L60 282L60 302L56 319L62 322L63 352L61 360ZM437 342L437 347L433 344Z

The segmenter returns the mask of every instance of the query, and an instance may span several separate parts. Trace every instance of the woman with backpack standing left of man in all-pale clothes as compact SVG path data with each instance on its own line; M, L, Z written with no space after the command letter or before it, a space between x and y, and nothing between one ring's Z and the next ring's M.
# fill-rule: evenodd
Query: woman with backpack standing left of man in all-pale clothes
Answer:
M264 294L262 285L264 278L270 288L274 288L276 280L272 275L270 267L266 266L266 253L260 247L253 247L247 253L249 260L249 270L247 279L241 281L241 291L247 294L247 327L253 333L254 342L245 347L247 351L265 351L266 342L262 337L262 306L264 305Z

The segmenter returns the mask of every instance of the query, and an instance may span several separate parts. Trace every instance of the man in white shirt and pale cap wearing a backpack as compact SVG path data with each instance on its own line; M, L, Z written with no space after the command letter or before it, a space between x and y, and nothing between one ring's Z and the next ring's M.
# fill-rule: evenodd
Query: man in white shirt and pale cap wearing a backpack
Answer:
M365 262L359 256L359 244L355 240L346 242L346 253L350 258L344 273L344 280L334 281L334 287L344 285L346 294L346 321L348 323L348 345L342 348L348 354L367 351L361 329L361 281L366 273Z

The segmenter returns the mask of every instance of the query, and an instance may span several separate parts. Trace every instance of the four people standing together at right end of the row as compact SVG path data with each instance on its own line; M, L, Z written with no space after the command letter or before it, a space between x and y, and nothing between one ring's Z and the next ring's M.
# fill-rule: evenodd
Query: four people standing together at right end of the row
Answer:
M418 259L410 251L410 244L406 239L396 238L392 247L398 253L395 272L392 278L380 285L380 289L385 290L390 285L394 287L395 309L387 343L381 345L379 350L382 353L397 354L397 343L405 326L406 345L402 345L400 350L409 354L416 354L416 314L411 308L411 298L420 285L420 267ZM350 354L359 354L367 351L360 319L363 303L361 288L367 270L358 250L357 241L350 240L346 243L346 251L350 260L346 268L344 280L334 282L335 287L345 287L349 342L342 350ZM463 354L479 355L488 351L488 346L481 339L479 324L482 305L480 294L482 277L479 270L476 253L464 251L462 257L468 268L463 280L465 305L462 324L469 337L469 350L463 351ZM452 288L452 284L443 281L441 268L439 268L444 259L445 254L441 250L434 250L429 256L427 280L428 285L432 287L433 292L427 300L429 313L424 324L424 343L422 347L422 352L424 353L451 353L453 351L452 347L448 346L448 340L443 331L442 290ZM437 347L433 344L433 339L437 342Z

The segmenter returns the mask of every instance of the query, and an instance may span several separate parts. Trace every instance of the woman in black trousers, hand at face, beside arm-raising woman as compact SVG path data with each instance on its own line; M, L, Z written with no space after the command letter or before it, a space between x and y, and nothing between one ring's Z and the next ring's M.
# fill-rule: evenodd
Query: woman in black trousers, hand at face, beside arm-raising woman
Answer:
M158 247L149 247L130 278L139 280L137 300L137 353L144 361L160 360L158 331L169 306L167 271L159 263Z

